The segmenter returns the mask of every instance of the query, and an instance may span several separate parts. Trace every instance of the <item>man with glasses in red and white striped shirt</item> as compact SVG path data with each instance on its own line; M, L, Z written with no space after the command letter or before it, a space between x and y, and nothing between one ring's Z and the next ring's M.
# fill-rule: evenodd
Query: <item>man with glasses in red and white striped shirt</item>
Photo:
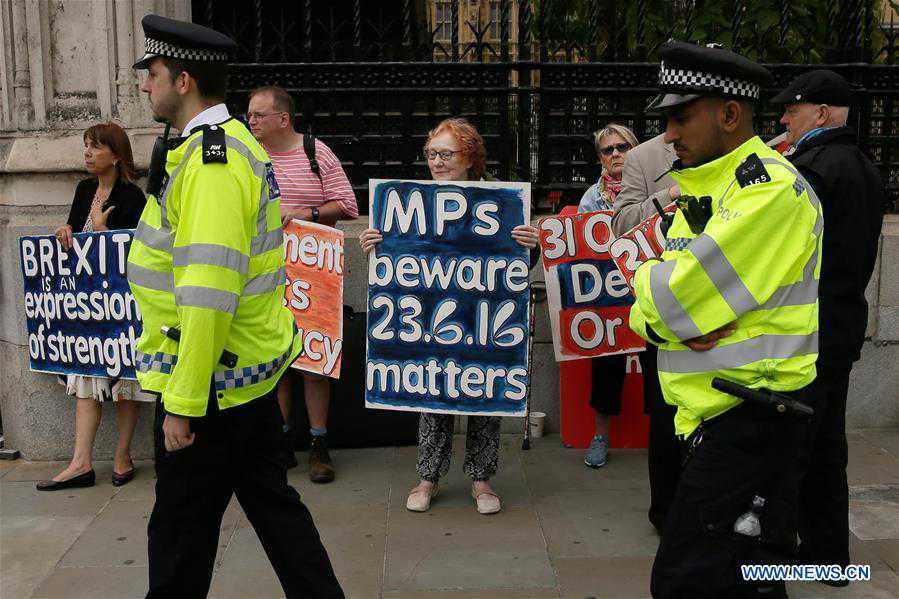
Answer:
M247 120L253 135L272 160L275 180L281 189L282 223L296 219L334 226L338 220L356 218L359 216L356 196L340 161L328 146L315 140L313 156L319 172L314 172L310 156L304 149L303 134L294 129L295 114L293 98L280 87L261 87L250 94ZM290 466L295 466L294 437L289 429L292 373L289 370L278 386L278 402L291 443ZM326 442L330 402L328 379L304 372L303 390L312 435L309 478L317 483L331 482L334 480L334 466Z

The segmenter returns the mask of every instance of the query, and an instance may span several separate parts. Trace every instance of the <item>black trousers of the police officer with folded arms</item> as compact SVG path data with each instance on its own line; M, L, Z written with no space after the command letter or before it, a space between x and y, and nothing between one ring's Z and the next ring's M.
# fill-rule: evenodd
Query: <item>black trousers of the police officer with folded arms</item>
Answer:
M814 383L787 395L818 403ZM743 581L740 566L795 562L796 504L811 427L745 403L705 423L695 452L686 449L690 457L665 520L652 568L654 598L785 596L783 583ZM761 537L734 533L755 495L766 500Z

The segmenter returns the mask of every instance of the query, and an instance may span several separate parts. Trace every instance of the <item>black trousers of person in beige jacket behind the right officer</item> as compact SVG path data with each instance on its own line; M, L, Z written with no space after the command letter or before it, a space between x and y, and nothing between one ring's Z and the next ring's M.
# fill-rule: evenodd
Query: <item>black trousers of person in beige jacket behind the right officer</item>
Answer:
M643 369L643 407L649 414L649 521L661 530L674 500L681 468L680 441L674 434L677 408L665 403L659 385L656 346L646 345L640 354Z

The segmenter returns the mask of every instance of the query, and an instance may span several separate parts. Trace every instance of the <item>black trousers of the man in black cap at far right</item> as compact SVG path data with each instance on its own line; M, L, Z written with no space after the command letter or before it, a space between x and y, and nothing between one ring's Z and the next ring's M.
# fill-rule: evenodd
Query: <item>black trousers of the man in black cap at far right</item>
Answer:
M846 395L852 364L818 365L825 395L816 412L812 459L799 494L799 555L804 564L849 563Z

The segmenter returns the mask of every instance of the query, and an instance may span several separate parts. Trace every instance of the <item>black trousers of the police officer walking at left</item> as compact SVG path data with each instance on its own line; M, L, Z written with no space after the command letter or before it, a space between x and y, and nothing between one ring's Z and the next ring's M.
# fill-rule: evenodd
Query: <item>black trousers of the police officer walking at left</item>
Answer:
M147 527L148 598L206 597L222 516L237 496L284 593L343 597L309 510L287 484L283 420L274 393L191 420L191 446L165 450L156 406L156 504Z

